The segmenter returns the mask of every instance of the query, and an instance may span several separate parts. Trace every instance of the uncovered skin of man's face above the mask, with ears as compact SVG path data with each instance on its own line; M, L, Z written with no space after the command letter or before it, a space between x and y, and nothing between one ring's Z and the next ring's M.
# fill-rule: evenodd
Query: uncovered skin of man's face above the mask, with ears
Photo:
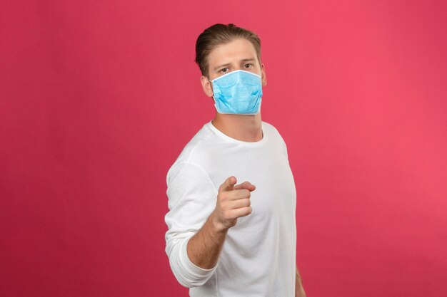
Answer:
M208 56L209 77L201 77L202 87L206 95L211 97L213 89L209 80L231 71L244 70L261 75L262 85L267 84L266 71L263 64L259 64L256 50L250 41L244 38L216 46Z

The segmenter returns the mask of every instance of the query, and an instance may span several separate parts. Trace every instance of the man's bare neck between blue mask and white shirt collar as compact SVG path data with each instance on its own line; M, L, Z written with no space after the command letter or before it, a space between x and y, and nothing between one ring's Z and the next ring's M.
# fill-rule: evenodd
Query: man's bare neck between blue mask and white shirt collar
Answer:
M261 113L257 115L224 115L216 113L211 123L228 137L245 142L262 139Z

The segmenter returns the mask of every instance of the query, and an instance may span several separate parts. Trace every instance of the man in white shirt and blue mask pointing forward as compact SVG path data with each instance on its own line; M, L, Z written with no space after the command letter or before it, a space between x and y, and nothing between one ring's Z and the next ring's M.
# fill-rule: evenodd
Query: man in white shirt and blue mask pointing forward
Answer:
M286 144L261 121L259 38L216 24L197 39L196 63L216 117L167 175L171 269L194 297L306 296L295 262L296 190Z

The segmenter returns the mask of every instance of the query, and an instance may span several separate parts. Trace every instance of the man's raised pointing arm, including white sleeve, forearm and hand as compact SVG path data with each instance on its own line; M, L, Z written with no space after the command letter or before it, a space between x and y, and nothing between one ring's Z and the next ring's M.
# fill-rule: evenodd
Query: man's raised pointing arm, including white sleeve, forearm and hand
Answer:
M234 186L236 178L230 177L216 189L204 170L187 162L171 168L166 182L171 270L182 286L202 286L214 274L228 228L251 212L248 197L255 187L248 182Z

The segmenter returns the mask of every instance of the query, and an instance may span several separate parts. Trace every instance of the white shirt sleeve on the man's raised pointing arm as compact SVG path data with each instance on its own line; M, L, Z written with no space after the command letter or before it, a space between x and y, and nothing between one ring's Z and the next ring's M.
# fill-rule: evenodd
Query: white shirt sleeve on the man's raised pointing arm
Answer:
M166 184L169 212L165 216L165 239L169 264L182 286L202 286L217 265L212 269L196 266L188 257L186 246L216 207L218 191L201 167L188 162L171 167Z

